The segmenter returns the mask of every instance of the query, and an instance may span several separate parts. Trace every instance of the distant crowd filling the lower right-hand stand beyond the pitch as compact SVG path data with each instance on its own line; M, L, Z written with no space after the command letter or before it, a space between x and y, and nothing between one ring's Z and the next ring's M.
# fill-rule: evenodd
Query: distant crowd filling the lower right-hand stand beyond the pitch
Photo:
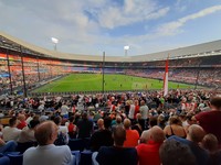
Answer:
M165 69L127 70L126 74L146 78L162 79ZM213 68L170 68L169 80L219 88L221 87L221 70Z

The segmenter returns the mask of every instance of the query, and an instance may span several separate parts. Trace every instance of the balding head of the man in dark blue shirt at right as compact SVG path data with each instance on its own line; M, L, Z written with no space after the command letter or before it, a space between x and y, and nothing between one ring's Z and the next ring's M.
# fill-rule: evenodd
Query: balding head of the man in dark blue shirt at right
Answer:
M204 138L206 132L200 125L192 124L188 128L187 135L188 135L187 139L189 139L190 141L199 143Z

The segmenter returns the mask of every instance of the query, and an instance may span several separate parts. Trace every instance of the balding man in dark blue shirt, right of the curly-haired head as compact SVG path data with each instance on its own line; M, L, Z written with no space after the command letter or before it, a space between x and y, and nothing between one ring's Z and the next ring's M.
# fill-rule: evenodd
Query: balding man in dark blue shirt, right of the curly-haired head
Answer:
M197 160L197 164L207 165L209 162L209 155L206 150L199 146L199 143L202 141L203 136L204 136L203 129L200 125L192 124L188 129L186 139L173 135L168 140L176 140L188 145Z

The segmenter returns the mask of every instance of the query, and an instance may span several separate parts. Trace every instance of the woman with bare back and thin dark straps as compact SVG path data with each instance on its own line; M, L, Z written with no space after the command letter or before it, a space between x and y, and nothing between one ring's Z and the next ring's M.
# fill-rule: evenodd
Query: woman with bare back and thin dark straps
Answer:
M185 129L181 127L181 121L179 120L178 117L170 117L169 119L169 125L167 125L165 129L165 134L167 138L172 136L172 135L177 135L180 138L186 138L186 131Z

